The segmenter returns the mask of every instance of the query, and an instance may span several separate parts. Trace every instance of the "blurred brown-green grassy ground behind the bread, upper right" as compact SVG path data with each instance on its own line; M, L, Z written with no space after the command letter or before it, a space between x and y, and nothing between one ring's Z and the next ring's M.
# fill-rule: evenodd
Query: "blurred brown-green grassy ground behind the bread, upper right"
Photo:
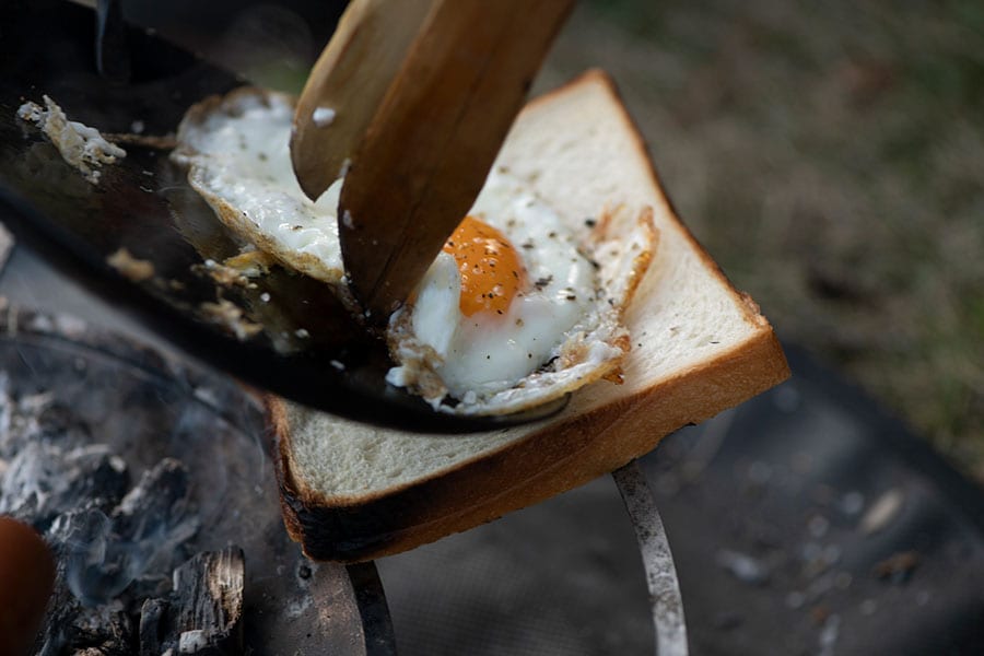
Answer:
M781 337L984 481L984 4L582 2L684 222Z

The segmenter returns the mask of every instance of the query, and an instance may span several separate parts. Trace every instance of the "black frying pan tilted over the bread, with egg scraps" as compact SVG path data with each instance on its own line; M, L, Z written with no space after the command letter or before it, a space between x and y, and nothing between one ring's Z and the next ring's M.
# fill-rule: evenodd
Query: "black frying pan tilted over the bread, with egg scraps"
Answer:
M187 353L328 412L406 430L462 432L539 419L562 407L507 418L435 412L385 383L385 345L323 284L279 268L256 280L256 289L218 283L200 265L238 248L166 151L126 144L127 156L105 166L98 185L84 180L16 117L25 99L40 103L47 94L70 119L104 133L132 132L139 121L144 134L167 134L189 105L243 83L143 30L125 28L120 42L126 66L114 66L104 49L107 74L101 75L92 10L63 0L8 0L2 9L0 209L21 242ZM107 265L121 247L151 261L153 278L133 283ZM209 320L202 304L220 298L262 324L262 332L244 341Z

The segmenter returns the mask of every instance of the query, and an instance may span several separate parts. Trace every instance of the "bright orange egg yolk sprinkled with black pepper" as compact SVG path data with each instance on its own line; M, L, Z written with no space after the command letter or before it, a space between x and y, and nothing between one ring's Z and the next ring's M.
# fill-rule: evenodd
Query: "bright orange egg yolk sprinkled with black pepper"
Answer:
M478 312L504 314L526 285L526 269L508 238L484 221L468 215L444 245L461 276L458 302L466 317Z

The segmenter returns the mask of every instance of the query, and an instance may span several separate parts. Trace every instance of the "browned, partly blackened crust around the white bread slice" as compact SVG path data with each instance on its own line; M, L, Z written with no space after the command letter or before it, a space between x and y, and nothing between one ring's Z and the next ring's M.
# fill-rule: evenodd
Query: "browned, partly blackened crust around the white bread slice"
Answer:
M360 562L399 553L472 528L610 472L651 452L677 429L704 421L789 376L780 342L758 305L738 292L677 218L647 149L613 83L588 71L567 86L530 103L536 107L581 84L602 84L616 99L634 147L649 164L673 221L703 263L730 290L753 332L715 358L677 372L635 394L539 425L505 446L412 483L326 499L295 475L284 402L267 397L268 433L274 443L284 522L291 537L315 560ZM631 354L630 354L631 358Z

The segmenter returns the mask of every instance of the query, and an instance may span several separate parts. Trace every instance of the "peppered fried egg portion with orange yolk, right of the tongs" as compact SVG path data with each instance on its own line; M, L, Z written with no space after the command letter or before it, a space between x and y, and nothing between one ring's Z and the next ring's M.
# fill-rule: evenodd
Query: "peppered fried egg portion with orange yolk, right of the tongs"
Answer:
M469 215L390 320L387 379L436 409L514 412L599 378L618 382L622 314L656 242L652 216L579 230L524 180L493 169ZM594 227L593 227L594 226Z

